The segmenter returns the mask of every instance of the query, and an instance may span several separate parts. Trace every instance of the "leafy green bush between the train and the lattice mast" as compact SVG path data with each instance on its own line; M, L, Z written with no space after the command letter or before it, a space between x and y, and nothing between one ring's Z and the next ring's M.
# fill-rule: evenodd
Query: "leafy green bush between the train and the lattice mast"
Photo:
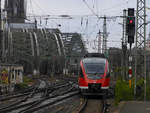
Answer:
M129 83L122 80L117 80L115 87L115 103L117 104L121 100L133 99L133 86L129 88Z

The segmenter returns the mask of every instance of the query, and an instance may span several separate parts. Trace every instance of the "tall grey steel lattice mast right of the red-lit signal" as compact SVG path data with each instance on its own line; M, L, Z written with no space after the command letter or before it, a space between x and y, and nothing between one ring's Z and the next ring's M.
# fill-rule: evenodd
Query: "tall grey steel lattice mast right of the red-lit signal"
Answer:
M134 95L136 97L136 81L137 81L137 55L138 51L142 51L144 56L144 70L141 74L144 75L144 100L146 100L146 0L137 0L137 12L136 12L136 53L135 53L135 86ZM142 66L141 66L142 67Z

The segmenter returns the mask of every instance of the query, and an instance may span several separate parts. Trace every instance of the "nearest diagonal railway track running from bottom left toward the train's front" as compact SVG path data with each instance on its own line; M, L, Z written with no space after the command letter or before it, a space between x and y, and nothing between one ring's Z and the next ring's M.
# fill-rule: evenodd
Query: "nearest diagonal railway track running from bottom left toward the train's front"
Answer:
M35 101L23 103L21 105L12 106L12 107L9 107L8 109L0 110L0 113L4 113L4 112L5 113L6 112L11 112L11 113L33 112L33 111L36 111L38 109L42 109L48 105L52 105L53 103L59 102L59 101L65 99L69 96L73 96L73 95L79 93L79 92L74 92L74 93L72 93L72 92L68 93L68 92L69 92L69 90L64 92L62 95L60 95L60 94L59 95L58 94L52 95L49 97L41 98L40 100L35 100ZM62 98L61 98L61 96L62 96ZM53 101L51 101L50 99L53 99ZM48 102L48 101L50 101L50 102Z

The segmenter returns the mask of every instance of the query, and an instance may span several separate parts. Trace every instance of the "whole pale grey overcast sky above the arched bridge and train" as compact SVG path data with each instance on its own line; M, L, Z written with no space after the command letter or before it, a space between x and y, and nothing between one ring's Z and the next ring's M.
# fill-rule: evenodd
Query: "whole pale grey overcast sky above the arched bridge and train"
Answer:
M102 31L103 20L100 19L97 22L97 17L94 16L93 12L99 16L121 16L123 9L136 8L137 0L85 1L89 7L87 7L84 0L27 0L28 15L71 15L73 19L50 19L47 25L45 21L42 21L42 25L43 27L55 28L58 27L58 24L61 24L59 28L62 32L79 32L83 35L84 40L86 40L88 50L96 51L97 42L94 40L96 40L98 31ZM146 2L146 6L150 7L150 0L146 0ZM147 15L149 14L150 10L147 10ZM149 16L147 21L149 21ZM122 19L107 21L107 31L109 33L108 47L121 47L122 26L118 24L121 22Z

